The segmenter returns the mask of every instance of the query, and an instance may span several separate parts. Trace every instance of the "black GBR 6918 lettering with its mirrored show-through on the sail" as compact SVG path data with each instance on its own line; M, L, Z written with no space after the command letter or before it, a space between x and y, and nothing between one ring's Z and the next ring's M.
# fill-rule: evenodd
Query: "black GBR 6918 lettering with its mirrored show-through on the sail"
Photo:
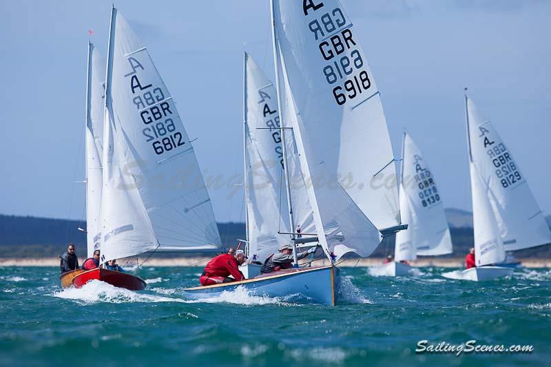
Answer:
M352 23L344 11L339 7L326 8L322 1L315 0L303 0L302 10L318 43L324 61L322 72L331 86L335 103L342 106L364 94L371 87L371 81L364 68L362 50L354 39Z

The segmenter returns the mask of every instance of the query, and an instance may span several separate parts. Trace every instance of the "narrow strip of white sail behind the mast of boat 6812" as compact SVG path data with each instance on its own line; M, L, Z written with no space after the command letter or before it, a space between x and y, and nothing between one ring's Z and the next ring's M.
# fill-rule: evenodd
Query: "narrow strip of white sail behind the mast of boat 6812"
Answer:
M105 63L91 42L88 42L86 81L86 237L87 257L101 245L99 233L101 204L101 157L103 155L103 105Z

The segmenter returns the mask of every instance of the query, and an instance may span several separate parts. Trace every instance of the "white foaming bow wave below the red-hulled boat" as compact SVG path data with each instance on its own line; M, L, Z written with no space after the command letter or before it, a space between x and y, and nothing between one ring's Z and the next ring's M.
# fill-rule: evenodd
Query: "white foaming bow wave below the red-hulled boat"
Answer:
M85 304L98 302L107 303L125 303L125 302L184 302L189 301L180 298L162 297L159 295L147 295L136 293L128 289L117 288L111 284L101 282L101 280L92 280L87 282L82 288L66 288L59 292L54 292L54 297L64 298L65 300L76 300Z

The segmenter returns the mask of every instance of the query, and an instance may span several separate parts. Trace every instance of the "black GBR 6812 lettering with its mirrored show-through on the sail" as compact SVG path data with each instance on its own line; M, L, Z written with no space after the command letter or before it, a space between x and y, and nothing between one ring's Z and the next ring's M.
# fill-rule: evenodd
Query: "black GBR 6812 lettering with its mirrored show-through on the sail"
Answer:
M143 65L148 64L140 63L132 56L128 57L128 62L133 72L125 74L125 77L130 77L132 102L138 110L141 122L145 125L142 129L145 142L151 144L158 155L185 145L184 134L178 131L181 123L178 121L176 106L172 98L167 97L168 92L163 92L163 81L158 78L158 85L142 83L137 72L147 74L147 69ZM153 79L156 80L156 78Z

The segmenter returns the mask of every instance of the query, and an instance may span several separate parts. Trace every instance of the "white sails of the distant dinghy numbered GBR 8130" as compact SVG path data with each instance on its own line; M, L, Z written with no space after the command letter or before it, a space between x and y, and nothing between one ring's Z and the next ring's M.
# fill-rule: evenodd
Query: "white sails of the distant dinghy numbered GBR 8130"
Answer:
M450 229L435 178L413 139L404 133L400 215L409 224L396 233L395 260L452 253Z

